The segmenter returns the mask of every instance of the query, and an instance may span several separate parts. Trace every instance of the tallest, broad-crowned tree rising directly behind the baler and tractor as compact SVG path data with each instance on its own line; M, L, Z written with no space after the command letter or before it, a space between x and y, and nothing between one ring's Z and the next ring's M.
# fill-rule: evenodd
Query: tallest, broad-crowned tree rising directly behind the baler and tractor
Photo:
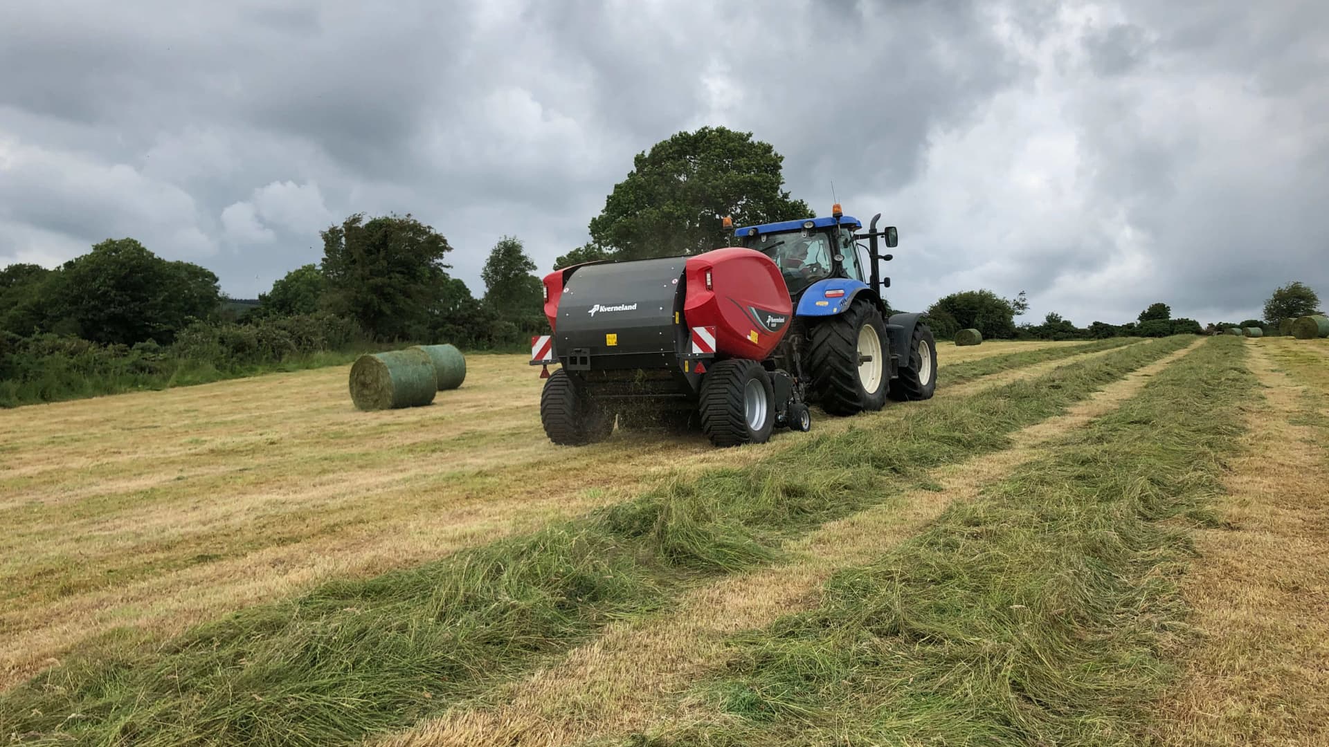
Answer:
M784 157L752 133L682 132L638 153L590 222L591 243L615 259L696 254L728 245L736 226L812 215L780 189Z

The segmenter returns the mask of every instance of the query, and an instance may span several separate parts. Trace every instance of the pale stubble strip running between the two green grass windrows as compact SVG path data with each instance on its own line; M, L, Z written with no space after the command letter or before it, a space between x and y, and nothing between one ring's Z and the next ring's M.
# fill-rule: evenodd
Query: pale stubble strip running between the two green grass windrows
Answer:
M373 744L552 747L646 731L666 719L676 726L719 718L683 694L698 675L723 661L728 635L815 606L817 589L832 573L880 556L952 502L973 498L1059 437L1115 409L1199 344L1104 387L1066 415L1018 432L1007 451L938 469L940 489L905 493L789 542L793 562L698 589L672 614L613 625L557 666L498 687L485 703L459 707Z

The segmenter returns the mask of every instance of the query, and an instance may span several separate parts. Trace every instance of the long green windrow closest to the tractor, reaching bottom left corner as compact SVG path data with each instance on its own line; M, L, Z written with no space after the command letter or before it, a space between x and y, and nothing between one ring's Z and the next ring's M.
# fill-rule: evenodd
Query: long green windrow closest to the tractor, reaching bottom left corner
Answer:
M101 641L0 696L27 742L330 744L399 728L526 671L682 586L884 497L882 480L1005 448L1009 435L1193 338L1126 347L884 427L809 437L739 469L368 581L327 584L169 641Z

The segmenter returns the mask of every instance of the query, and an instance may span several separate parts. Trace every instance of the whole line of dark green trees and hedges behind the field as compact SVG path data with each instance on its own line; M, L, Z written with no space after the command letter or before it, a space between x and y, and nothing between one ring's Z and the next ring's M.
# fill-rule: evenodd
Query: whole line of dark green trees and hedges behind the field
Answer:
M627 177L614 185L587 225L590 241L556 266L726 246L731 237L724 217L736 225L813 217L784 189L783 161L752 133L726 128L661 141L638 153ZM215 274L166 261L133 238L102 241L53 270L4 267L0 405L336 362L328 354L346 358L403 342L516 350L548 326L541 282L533 274L537 266L516 237L504 235L490 249L480 298L449 274L448 239L409 214L354 214L320 231L320 238L319 262L291 270L253 304L227 303ZM1277 324L1281 316L1313 310L1318 299L1292 283L1271 303L1267 322ZM944 339L968 327L989 339L1204 331L1192 319L1172 319L1164 303L1142 311L1135 322L1088 327L1055 312L1042 324L1017 323L1027 308L1023 291L1005 299L975 290L937 300L928 316Z

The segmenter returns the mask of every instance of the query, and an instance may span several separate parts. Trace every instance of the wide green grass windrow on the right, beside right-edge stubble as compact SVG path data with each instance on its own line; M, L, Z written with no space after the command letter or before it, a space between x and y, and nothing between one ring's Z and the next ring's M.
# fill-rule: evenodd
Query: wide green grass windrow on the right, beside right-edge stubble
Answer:
M1255 383L1216 338L819 609L738 638L727 715L651 744L1138 744Z

